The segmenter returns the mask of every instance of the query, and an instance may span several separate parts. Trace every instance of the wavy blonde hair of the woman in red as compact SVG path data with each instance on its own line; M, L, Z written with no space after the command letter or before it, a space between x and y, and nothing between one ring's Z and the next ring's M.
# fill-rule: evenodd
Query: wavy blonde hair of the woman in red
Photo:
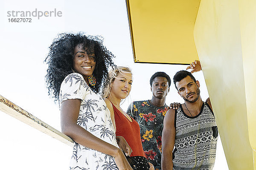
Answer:
M103 97L107 98L110 95L110 91L111 91L111 86L112 86L112 82L116 79L116 77L119 74L123 74L123 73L131 73L131 68L128 67L123 67L123 66L117 66L114 69L111 69L110 71L108 71L108 78L109 78L109 82L108 85L106 85L106 87L104 88L103 91Z

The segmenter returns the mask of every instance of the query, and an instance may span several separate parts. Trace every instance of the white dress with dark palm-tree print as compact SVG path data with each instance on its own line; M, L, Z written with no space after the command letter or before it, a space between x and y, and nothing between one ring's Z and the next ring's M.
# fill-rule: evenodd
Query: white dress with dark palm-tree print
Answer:
M111 114L105 101L95 94L81 74L69 74L61 84L60 103L81 99L77 124L94 136L118 147ZM118 170L113 156L74 142L70 170Z

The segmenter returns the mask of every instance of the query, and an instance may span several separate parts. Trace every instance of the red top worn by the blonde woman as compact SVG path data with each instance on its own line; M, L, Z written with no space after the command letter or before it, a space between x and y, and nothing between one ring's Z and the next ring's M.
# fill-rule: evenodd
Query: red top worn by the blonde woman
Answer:
M122 136L132 149L131 156L144 156L144 151L140 139L140 125L132 117L132 122L127 119L112 103L115 122L116 136Z

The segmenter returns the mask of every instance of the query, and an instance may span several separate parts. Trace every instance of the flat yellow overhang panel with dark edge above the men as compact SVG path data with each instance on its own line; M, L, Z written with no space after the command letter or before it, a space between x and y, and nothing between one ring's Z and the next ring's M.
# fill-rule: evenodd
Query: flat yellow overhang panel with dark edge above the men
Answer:
M194 25L200 0L126 0L134 62L198 59Z

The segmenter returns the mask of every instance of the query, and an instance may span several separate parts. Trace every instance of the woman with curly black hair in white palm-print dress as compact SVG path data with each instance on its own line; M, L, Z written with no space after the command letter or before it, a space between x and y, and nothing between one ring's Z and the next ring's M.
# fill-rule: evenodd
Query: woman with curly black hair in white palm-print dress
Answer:
M61 131L74 140L70 170L132 170L116 143L100 89L113 54L98 37L59 34L49 47L46 82L61 108Z

